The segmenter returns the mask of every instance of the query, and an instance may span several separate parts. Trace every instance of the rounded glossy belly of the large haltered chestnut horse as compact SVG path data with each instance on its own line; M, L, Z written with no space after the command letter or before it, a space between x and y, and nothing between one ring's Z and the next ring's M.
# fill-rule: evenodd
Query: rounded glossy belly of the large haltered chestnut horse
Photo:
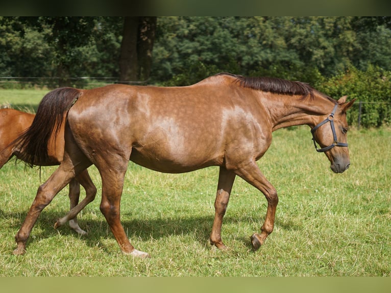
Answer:
M164 173L190 172L222 162L222 137L193 124L189 119L155 118L155 124L133 132L130 160Z

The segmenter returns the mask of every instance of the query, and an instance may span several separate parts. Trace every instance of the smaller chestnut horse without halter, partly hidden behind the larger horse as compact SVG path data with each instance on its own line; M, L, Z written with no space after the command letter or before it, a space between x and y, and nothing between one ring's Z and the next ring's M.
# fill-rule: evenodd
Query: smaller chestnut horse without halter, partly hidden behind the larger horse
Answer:
M33 122L35 115L21 112L15 109L0 109L0 168L4 166L13 156L23 160L26 156L23 151L18 148L15 139L29 128ZM56 140L48 143L48 159L36 162L41 166L59 165L64 154L64 125L59 130ZM77 176L83 187L86 189L86 201L91 202L95 198L96 188L89 178L87 170ZM80 183L76 179L69 182L69 201L70 208L75 207L79 203ZM86 234L77 222L76 216L69 218L69 226L79 234Z

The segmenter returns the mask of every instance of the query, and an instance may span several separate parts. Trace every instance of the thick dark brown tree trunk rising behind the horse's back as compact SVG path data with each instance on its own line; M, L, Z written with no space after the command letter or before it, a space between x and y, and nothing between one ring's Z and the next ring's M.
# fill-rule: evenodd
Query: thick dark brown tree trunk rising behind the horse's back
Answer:
M129 16L124 18L124 33L119 59L119 82L148 82L156 23L157 17Z

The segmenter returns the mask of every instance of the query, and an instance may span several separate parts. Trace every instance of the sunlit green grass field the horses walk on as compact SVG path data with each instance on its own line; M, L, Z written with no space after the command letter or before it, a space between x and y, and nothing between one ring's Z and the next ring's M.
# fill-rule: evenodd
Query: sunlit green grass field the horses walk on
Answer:
M0 90L0 104L31 107L46 91ZM7 99L8 97L8 99ZM266 200L237 178L224 218L228 251L209 245L218 168L161 174L129 163L121 200L121 221L132 244L151 254L133 259L120 253L94 202L79 215L88 232L53 228L67 212L67 188L41 213L27 253L12 255L14 235L38 186L55 167L26 169L12 161L0 170L0 276L391 276L391 129L349 132L351 167L334 174L316 153L306 126L274 133L259 161L279 193L276 225L264 246L251 249ZM84 193L82 193L84 197Z

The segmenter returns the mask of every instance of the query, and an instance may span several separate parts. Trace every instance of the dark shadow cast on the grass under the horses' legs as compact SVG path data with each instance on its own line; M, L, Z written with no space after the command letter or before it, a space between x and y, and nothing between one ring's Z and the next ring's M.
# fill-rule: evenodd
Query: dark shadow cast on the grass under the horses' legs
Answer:
M102 238L114 238L102 214L100 214L99 219L79 218L78 221L80 227L88 233L86 236L79 236L68 226L68 224L59 227L57 230L54 229L54 223L64 214L64 212L59 211L43 210L36 224L34 225L34 227L39 227L39 229L33 228L31 236L27 242L27 250L29 243L33 241L39 241L40 239L56 237L58 236L58 233L64 236L80 237L80 239L85 241L86 245L89 247L102 246L99 244L102 241ZM3 229L8 231L15 231L16 234L20 229L22 222L26 218L26 215L27 211L7 213L0 209L0 217L7 218L8 220L6 221L6 225L3 225ZM121 224L123 225L129 238L139 237L142 241L149 241L151 238L160 239L169 237L171 235L194 235L197 237L197 241L199 241L201 245L208 246L209 236L213 224L213 216L214 214L211 213L210 215L194 217L163 217L135 220L125 219L121 221ZM258 219L257 223L259 223L259 227L257 227L257 230L259 231L253 232L260 232L260 227L263 220L264 218ZM239 226L241 222L250 224L253 221L254 218L251 216L232 217L227 215L224 217L223 230L225 225L235 225L235 223L237 223ZM280 223L278 220L276 220L275 225L287 230L300 229L300 227L292 226L291 223ZM224 240L224 232L222 236ZM243 245L251 249L252 245L250 236L251 235L240 235L235 237L235 240L242 241Z

